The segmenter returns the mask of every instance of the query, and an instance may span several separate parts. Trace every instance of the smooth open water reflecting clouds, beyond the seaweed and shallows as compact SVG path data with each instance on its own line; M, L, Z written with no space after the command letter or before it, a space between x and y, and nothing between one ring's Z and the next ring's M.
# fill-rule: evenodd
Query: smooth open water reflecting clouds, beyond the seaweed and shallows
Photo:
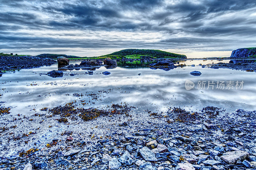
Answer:
M228 60L224 60L228 62ZM197 63L196 63L197 62ZM220 61L188 61L186 64L206 64ZM223 62L223 61L222 61ZM71 62L73 64L80 62ZM181 63L181 62L180 62ZM185 62L183 62L185 63ZM43 107L55 107L70 101L79 100L73 93L98 92L111 89L94 107L126 102L139 106L138 112L152 109L164 111L168 106L198 109L205 106L223 107L229 111L238 108L256 110L256 74L229 69L196 67L176 68L169 71L149 68L96 69L93 75L84 74L87 70L68 70L62 78L44 75L57 70L57 64L34 69L23 69L4 74L0 78L2 105L12 107L12 114L34 114ZM201 76L192 76L191 71L200 71ZM103 71L111 72L105 76ZM77 75L71 77L70 73ZM141 73L139 76L138 73ZM186 90L185 81L195 83L194 89ZM205 88L196 89L199 81L206 81ZM243 89L207 89L208 81L244 81ZM235 85L234 85L235 86ZM81 98L81 97L80 97ZM88 98L88 97L87 97ZM82 98L86 100L86 97ZM81 100L81 99L80 99ZM85 106L86 107L86 106ZM87 107L92 107L87 106ZM34 110L33 110L34 109Z

